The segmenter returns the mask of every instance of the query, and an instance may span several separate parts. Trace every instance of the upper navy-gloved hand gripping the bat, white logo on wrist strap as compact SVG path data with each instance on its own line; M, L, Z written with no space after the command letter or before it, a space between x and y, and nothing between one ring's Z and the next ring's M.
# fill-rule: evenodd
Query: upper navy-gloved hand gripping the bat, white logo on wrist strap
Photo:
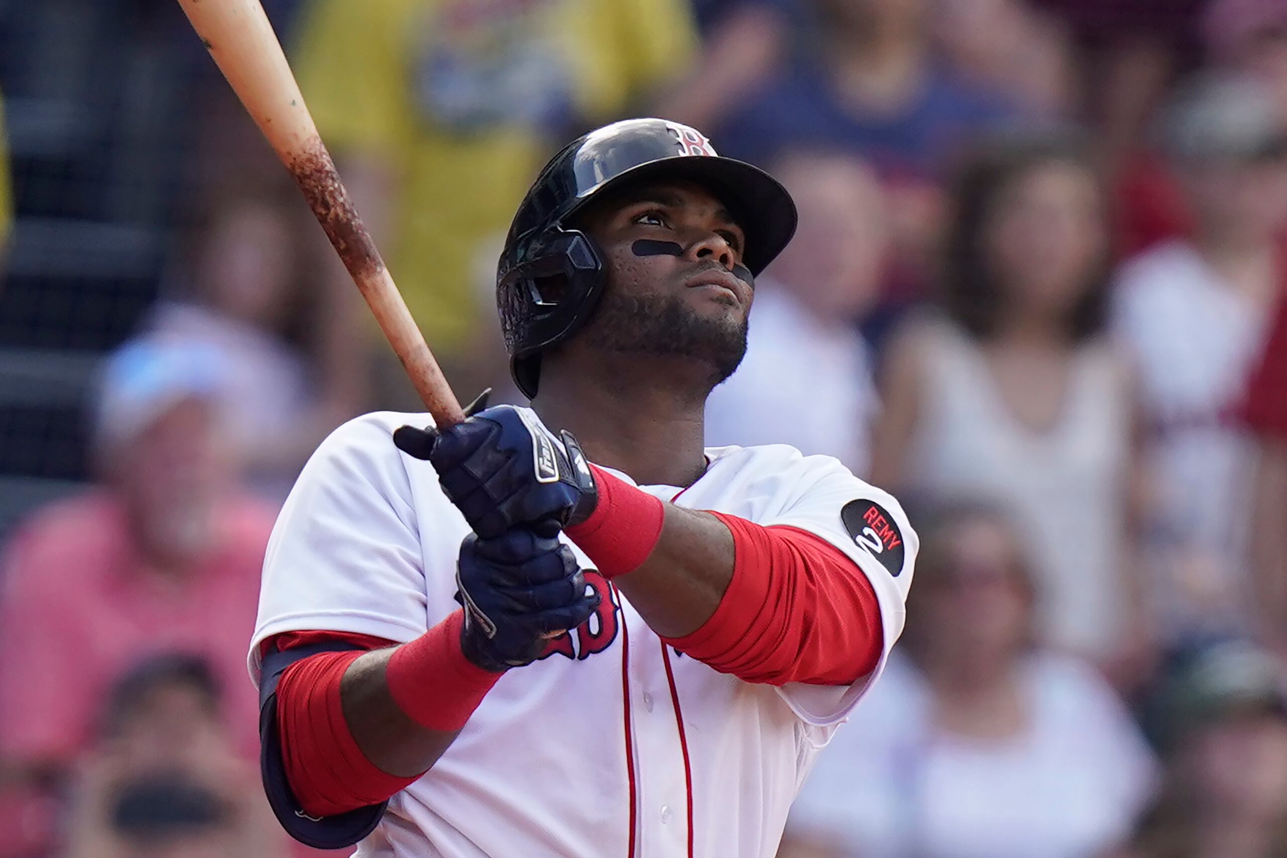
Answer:
M497 405L444 430L402 426L394 444L429 461L474 533L490 539L516 526L553 536L593 512L586 454L571 432L561 437L530 412Z

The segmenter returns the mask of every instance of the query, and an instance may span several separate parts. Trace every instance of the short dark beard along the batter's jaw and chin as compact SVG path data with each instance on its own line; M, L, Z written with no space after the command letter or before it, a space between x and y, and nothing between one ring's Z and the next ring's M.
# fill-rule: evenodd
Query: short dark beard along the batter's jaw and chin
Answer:
M605 354L691 358L709 369L705 382L714 387L746 354L746 319L704 316L680 295L620 295L609 287L586 337Z

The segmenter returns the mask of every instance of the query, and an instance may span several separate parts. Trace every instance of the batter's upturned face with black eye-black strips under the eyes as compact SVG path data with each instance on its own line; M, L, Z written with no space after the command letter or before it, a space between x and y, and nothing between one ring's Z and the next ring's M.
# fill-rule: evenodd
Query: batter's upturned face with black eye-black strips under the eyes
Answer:
M641 184L588 211L582 228L609 271L584 332L595 349L692 358L712 383L737 368L754 286L745 234L714 196L683 181Z

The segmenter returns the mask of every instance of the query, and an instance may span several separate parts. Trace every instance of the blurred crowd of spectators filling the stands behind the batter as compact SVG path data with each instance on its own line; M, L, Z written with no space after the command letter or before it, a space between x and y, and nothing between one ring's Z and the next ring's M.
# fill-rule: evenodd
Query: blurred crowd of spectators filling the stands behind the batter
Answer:
M111 0L151 59L84 69L153 117L108 185L152 203L95 214L161 237L147 300L67 298L32 248L108 180L37 72L103 4L39 5L0 1L0 388L94 370L82 466L0 533L0 858L313 854L257 786L260 563L317 443L416 397L174 3ZM561 141L664 116L793 193L708 443L842 459L923 553L781 858L1287 858L1287 0L265 6L462 399L520 401L494 264ZM18 392L12 449L62 431Z

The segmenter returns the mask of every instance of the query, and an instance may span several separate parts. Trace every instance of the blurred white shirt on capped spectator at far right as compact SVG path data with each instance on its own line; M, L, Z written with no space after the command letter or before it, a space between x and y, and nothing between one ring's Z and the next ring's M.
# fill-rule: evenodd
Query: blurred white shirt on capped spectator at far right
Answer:
M1158 601L1180 625L1236 621L1254 449L1236 409L1266 314L1176 241L1122 268L1115 322L1138 364L1161 535L1174 548Z

